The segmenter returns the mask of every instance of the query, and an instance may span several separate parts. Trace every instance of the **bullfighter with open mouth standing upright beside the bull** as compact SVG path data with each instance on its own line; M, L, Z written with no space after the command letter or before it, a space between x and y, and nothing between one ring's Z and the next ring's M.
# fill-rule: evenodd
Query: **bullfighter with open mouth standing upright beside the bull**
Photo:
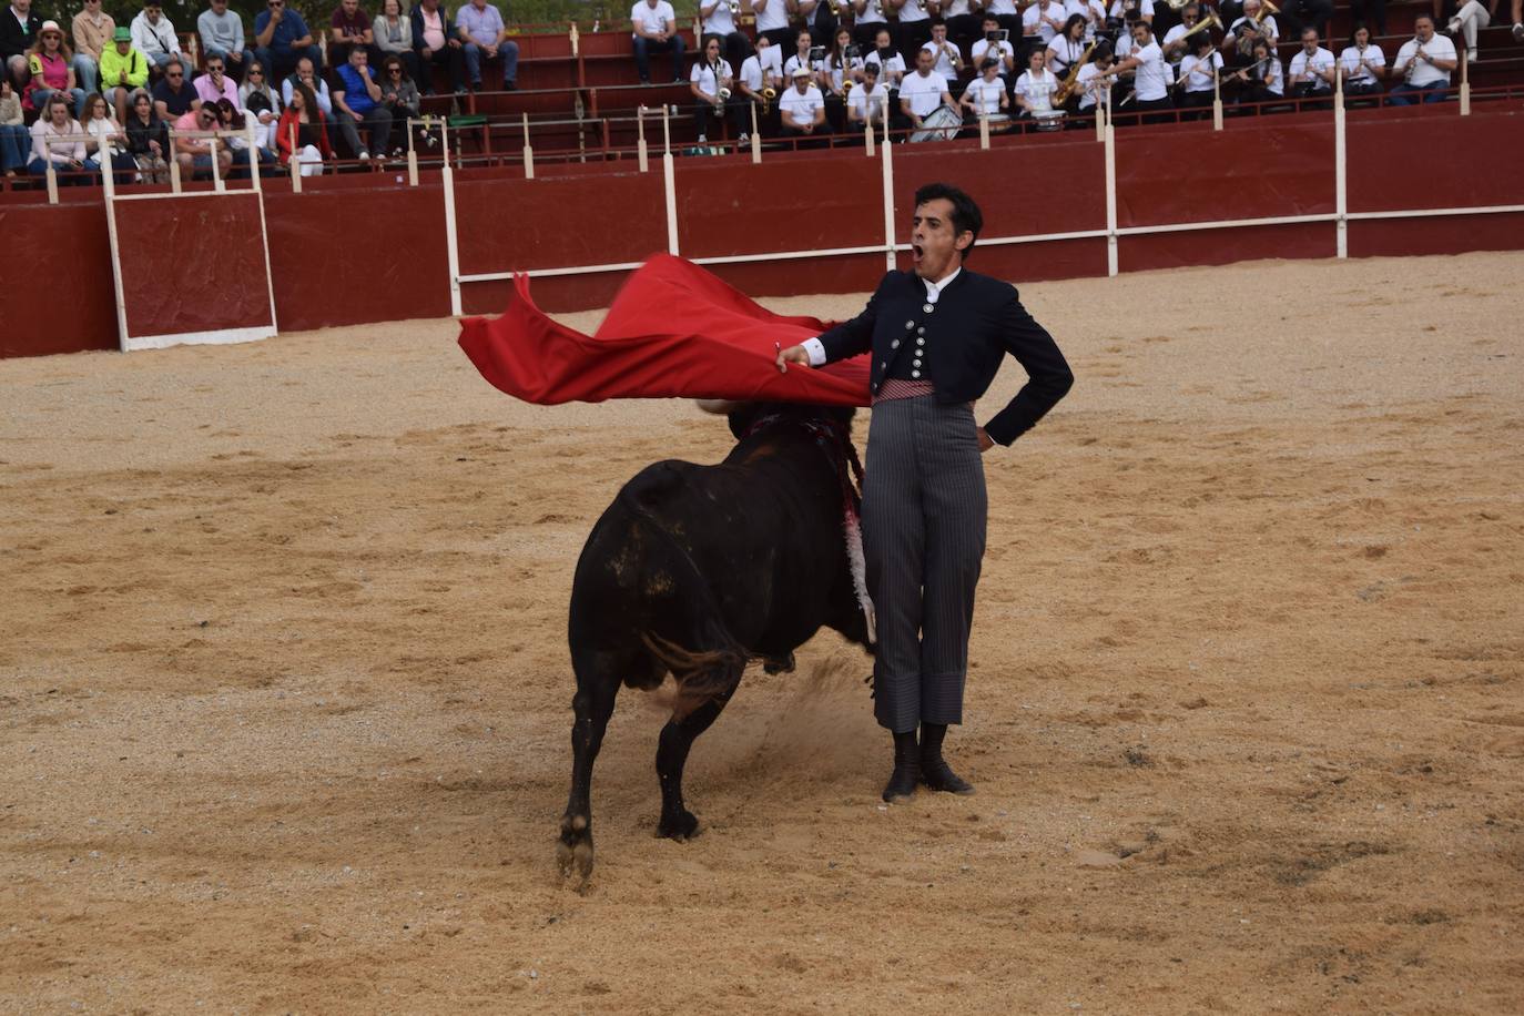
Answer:
M916 192L913 271L892 271L867 309L779 352L779 370L872 352L863 551L878 615L875 716L895 736L884 800L974 791L942 757L963 722L968 634L985 556L980 455L1009 445L1064 398L1074 376L1015 286L963 268L983 215L942 183ZM983 427L974 401L1010 353L1027 384ZM920 737L917 740L916 730Z

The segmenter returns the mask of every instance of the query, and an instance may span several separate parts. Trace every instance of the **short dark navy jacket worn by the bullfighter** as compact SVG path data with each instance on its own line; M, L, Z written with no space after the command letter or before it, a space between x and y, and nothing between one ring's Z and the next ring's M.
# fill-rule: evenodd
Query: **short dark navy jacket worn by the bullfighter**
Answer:
M924 344L917 344L924 338ZM1009 445L1064 398L1074 375L1053 337L1032 320L1009 282L963 268L937 297L913 271L892 271L867 308L820 337L826 359L873 352L869 390L885 378L910 378L908 355L922 350L924 373L940 402L972 402L985 395L1010 353L1026 367L1027 384L985 425L991 440Z

